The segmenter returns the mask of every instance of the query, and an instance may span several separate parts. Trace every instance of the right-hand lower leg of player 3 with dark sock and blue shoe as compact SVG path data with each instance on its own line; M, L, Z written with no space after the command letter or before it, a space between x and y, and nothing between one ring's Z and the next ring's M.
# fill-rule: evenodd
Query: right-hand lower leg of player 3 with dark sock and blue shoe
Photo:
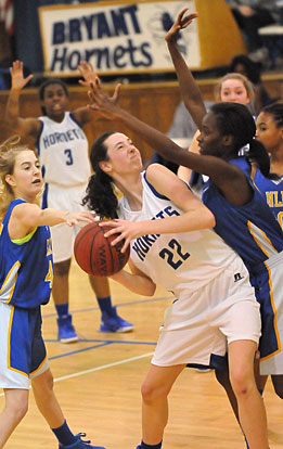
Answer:
M101 310L101 332L130 332L133 324L118 316L116 307L112 305L110 282L107 278L89 277L91 287L95 293Z

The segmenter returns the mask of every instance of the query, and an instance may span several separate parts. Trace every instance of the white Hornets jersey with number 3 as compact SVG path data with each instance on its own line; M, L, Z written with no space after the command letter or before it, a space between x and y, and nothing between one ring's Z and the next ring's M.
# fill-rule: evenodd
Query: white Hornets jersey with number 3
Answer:
M88 140L72 113L63 121L39 117L41 131L37 152L43 167L44 180L62 187L86 184L90 176Z

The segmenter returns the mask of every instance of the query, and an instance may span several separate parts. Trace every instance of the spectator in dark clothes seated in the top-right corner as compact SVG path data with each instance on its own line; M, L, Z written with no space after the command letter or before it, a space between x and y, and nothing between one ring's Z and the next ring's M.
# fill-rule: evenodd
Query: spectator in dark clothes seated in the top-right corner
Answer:
M263 47L258 28L279 23L280 9L276 0L226 0L226 2L244 35L249 57L255 62L265 62L268 59L268 50Z

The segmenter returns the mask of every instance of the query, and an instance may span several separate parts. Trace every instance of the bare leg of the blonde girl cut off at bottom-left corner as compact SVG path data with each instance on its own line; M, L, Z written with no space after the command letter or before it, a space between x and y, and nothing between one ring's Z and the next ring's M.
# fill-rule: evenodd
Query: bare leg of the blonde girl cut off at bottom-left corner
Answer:
M28 408L28 389L4 389L5 405L0 413L0 447L2 448Z

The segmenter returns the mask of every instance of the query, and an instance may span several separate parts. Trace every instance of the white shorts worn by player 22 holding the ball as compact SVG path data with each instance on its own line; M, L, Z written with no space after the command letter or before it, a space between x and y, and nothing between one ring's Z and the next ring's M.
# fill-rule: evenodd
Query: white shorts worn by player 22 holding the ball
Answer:
M165 324L152 359L158 367L205 364L217 368L231 342L248 339L258 344L261 330L259 304L236 259L224 274L203 288L177 299L165 311Z

